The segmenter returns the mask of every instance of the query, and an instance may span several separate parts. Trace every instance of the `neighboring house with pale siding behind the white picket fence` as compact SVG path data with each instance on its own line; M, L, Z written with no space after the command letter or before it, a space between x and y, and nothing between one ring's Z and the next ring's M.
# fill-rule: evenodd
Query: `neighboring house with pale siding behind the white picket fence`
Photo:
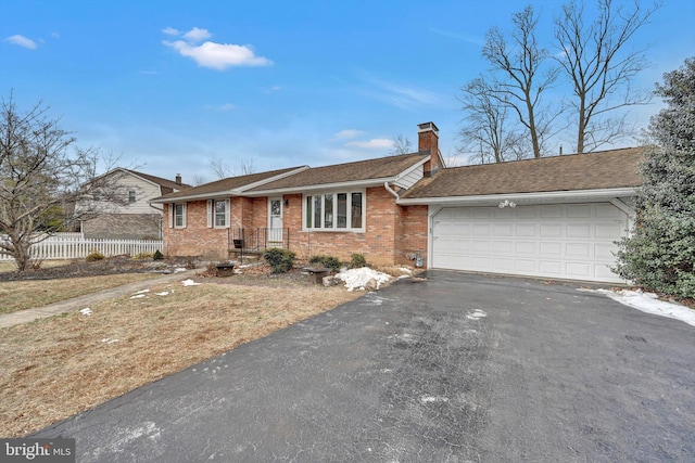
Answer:
M180 176L173 181L124 168L110 170L104 177L113 178L123 204L104 204L103 214L84 221L80 231L85 237L160 240L163 208L150 200L191 188ZM94 195L92 201L103 198Z

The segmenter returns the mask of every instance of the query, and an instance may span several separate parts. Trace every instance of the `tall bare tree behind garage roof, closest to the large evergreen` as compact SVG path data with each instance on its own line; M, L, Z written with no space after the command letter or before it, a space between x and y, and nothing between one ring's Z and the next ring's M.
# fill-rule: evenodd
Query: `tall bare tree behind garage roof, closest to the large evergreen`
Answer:
M631 134L626 114L617 110L646 104L652 94L632 88L631 82L648 65L644 50L626 50L626 44L659 8L643 10L639 0L626 11L612 0L598 0L598 16L584 24L582 2L563 5L555 20L557 57L572 83L572 107L577 117L577 153L591 152Z

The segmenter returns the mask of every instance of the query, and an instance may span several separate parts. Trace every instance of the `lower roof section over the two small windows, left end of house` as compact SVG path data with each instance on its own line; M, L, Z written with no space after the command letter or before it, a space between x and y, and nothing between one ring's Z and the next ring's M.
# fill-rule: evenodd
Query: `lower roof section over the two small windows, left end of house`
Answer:
M266 172L250 173L248 176L228 177L226 179L205 183L199 187L193 187L188 190L167 194L152 200L152 202L167 203L176 200L198 200L216 196L238 195L249 188L254 188L258 184L274 181L285 176L291 176L294 172L301 172L307 168L307 166L289 167L287 169L269 170Z

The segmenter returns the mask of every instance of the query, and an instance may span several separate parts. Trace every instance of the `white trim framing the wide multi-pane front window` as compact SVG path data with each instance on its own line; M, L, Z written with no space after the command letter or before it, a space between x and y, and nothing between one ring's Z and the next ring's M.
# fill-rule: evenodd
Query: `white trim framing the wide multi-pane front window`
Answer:
M362 195L362 227L355 228L352 227L352 221L353 221L353 217L352 217L352 196L354 193L359 193ZM346 213L346 227L344 228L339 228L338 227L338 211L339 211L339 207L338 207L338 195L339 194L345 194L346 195L346 204L345 204L345 213ZM307 218L308 218L308 214L309 214L309 209L308 209L308 204L307 204L307 198L312 198L311 200L311 220L312 220L312 226L314 226L315 220L316 220L316 210L314 208L314 205L316 204L316 197L320 197L320 221L321 221L321 226L325 223L326 221L326 195L332 195L332 227L331 228L317 228L317 227L307 227ZM350 190L320 190L320 191L316 191L316 192L311 192L311 193L304 193L302 194L302 231L305 232L330 232L330 233L364 233L366 231L366 211L367 211L367 191L366 189L350 189Z

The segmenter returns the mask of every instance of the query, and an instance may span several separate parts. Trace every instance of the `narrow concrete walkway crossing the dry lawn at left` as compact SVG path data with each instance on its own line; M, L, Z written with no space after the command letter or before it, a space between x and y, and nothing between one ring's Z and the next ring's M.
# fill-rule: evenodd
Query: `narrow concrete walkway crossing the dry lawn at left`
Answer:
M148 280L137 281L121 286L102 290L97 293L87 294L85 296L73 297L72 299L59 300L43 307L35 307L33 309L20 310L12 313L0 316L0 329L10 327L22 323L29 323L34 320L53 317L59 313L80 310L90 305L102 300L115 299L117 297L132 294L137 291L146 290L162 283L172 281L187 280L195 275L197 270L186 270L178 273L168 273L161 276L154 276Z

